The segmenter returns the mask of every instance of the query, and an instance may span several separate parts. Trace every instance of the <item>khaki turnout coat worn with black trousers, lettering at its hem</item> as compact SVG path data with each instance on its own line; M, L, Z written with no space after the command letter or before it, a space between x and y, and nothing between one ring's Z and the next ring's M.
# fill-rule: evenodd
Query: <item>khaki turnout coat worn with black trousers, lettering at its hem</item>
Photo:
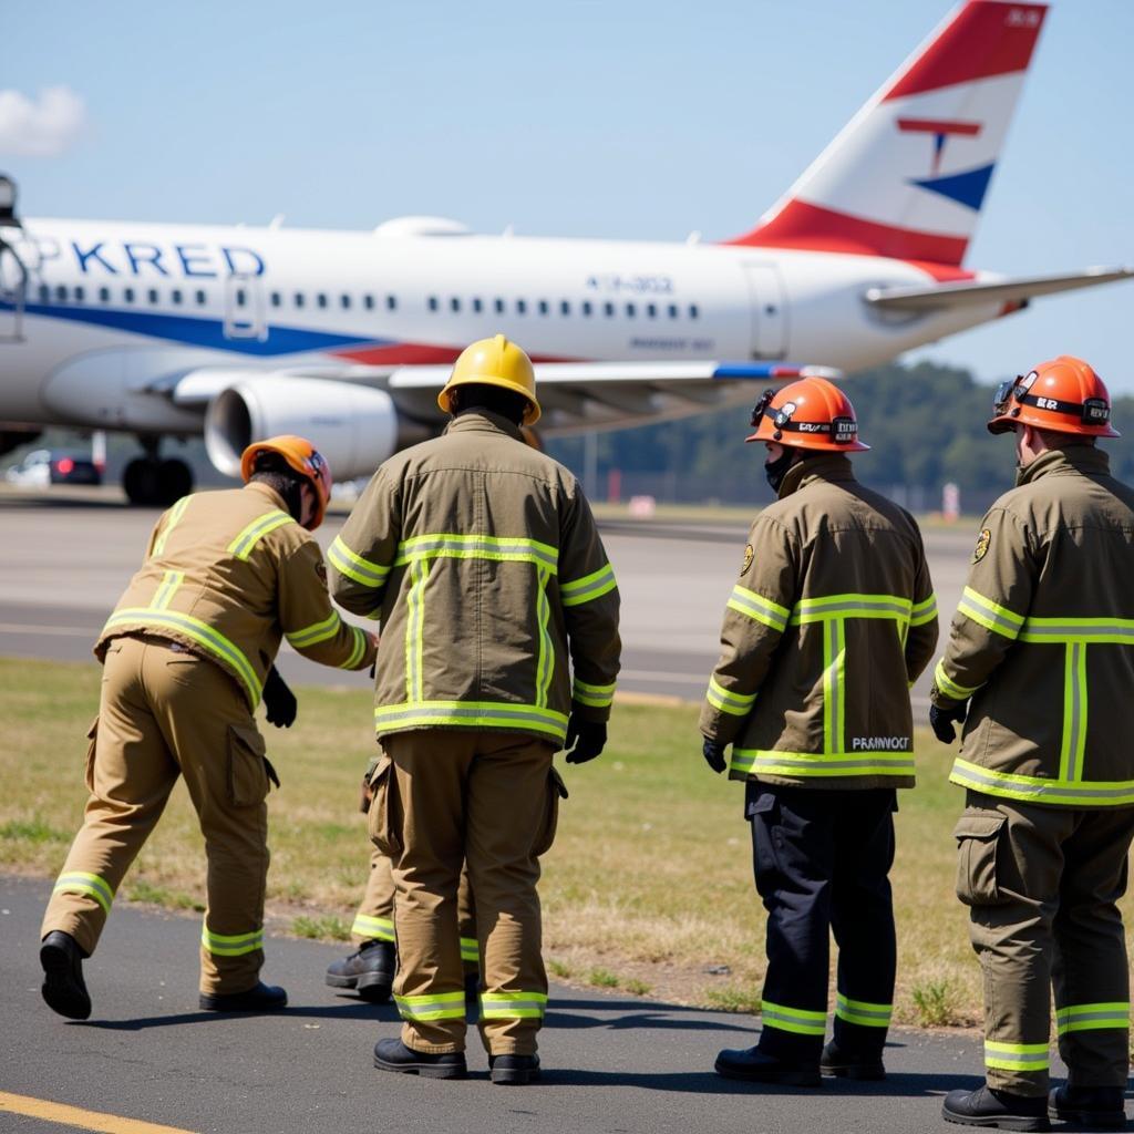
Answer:
M937 634L913 517L811 457L752 525L701 731L733 744L733 779L911 787L908 687Z

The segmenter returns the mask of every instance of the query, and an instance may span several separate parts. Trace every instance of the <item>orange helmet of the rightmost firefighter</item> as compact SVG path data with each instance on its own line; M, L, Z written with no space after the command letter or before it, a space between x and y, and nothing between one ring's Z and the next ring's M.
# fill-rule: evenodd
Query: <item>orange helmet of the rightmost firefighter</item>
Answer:
M1041 362L996 391L990 433L1033 425L1082 437L1122 437L1110 424L1110 395L1092 366L1074 355Z

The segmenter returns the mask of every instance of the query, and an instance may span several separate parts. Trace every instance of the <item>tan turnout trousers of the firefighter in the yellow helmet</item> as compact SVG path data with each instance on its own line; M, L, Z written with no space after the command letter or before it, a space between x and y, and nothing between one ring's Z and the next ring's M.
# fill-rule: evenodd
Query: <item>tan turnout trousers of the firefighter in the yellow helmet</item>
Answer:
M476 896L481 1039L490 1055L532 1055L548 978L541 956L539 855L558 813L555 746L473 729L382 739L371 779L370 832L396 887L401 1040L416 1051L465 1048L457 890Z

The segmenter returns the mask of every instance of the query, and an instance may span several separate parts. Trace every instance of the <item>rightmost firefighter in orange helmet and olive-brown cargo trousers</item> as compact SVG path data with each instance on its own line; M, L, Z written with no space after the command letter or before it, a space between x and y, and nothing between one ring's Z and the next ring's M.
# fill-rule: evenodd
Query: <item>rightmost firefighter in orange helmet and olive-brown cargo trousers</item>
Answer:
M1061 355L1006 382L1016 488L992 506L931 722L966 790L957 896L984 973L987 1085L945 1117L1002 1129L1125 1126L1129 976L1117 902L1134 833L1134 490L1109 473L1110 398ZM1068 1081L1048 1098L1049 998Z

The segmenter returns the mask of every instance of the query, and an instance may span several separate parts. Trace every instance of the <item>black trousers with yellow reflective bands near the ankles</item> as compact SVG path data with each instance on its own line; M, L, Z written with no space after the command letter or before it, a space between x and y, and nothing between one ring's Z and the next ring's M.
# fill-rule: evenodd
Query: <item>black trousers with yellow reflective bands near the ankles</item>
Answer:
M819 1059L833 932L835 1040L847 1051L881 1052L897 965L888 878L896 810L892 788L747 785L756 890L768 911L761 1051Z

